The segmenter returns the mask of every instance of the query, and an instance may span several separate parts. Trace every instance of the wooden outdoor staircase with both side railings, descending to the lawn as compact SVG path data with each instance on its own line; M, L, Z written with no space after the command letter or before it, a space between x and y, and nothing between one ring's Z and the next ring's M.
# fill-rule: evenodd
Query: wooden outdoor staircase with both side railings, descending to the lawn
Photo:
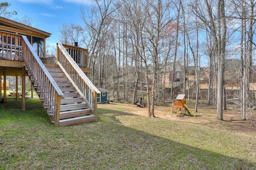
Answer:
M48 116L55 126L69 126L97 120L98 89L90 82L70 54L57 44L56 64L43 64L22 35L22 57L26 72Z

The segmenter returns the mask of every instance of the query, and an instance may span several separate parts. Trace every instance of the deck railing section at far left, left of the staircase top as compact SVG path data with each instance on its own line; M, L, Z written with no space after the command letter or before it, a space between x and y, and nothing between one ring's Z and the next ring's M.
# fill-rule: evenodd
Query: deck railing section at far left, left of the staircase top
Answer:
M17 34L0 32L0 59L21 60L22 37Z

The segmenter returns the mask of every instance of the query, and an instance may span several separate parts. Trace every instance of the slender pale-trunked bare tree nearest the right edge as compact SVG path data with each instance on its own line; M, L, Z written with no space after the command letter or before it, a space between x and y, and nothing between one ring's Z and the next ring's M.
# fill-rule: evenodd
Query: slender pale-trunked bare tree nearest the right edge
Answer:
M238 14L236 18L241 21L241 38L240 38L240 58L241 58L241 75L242 75L242 108L241 116L242 119L246 119L246 107L248 106L248 92L249 92L249 82L252 68L252 53L255 49L256 44L253 41L253 35L255 30L255 10L254 6L256 2L254 0L242 1L240 4L234 2L236 13ZM254 46L254 48L253 48Z

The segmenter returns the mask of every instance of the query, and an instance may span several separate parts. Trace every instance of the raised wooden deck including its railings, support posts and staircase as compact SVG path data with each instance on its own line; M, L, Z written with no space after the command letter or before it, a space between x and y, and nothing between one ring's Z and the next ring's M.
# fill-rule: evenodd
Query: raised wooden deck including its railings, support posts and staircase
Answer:
M22 77L22 92L25 94L25 76L30 78L50 120L55 126L67 126L97 120L97 88L86 74L87 51L72 46L57 44L57 56L51 59L38 57L26 36L0 33L5 41L0 43L0 75ZM10 40L10 41L8 41ZM79 52L72 58L66 49ZM2 53L1 53L2 52ZM75 60L78 62L76 63ZM78 66L80 65L80 66ZM16 87L18 89L18 87ZM6 89L4 89L4 102ZM20 92L13 92L12 95ZM18 97L16 96L16 98ZM22 109L26 109L22 95Z

